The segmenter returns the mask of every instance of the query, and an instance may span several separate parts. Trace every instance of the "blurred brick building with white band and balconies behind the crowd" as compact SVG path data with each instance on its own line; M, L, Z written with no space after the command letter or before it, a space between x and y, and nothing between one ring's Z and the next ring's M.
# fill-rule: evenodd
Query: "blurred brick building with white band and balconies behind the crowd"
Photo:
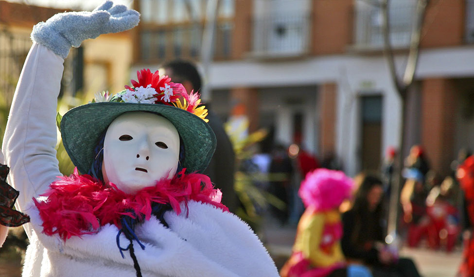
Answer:
M223 117L246 104L250 128L320 158L336 153L349 174L380 167L399 144L400 100L384 59L382 16L370 0L219 1L206 76ZM392 0L390 39L403 70L415 0ZM199 61L205 0L137 0L134 68ZM423 145L439 173L474 149L474 1L430 1L416 82L408 95L407 146ZM400 72L401 74L403 72ZM405 150L406 153L406 150Z

